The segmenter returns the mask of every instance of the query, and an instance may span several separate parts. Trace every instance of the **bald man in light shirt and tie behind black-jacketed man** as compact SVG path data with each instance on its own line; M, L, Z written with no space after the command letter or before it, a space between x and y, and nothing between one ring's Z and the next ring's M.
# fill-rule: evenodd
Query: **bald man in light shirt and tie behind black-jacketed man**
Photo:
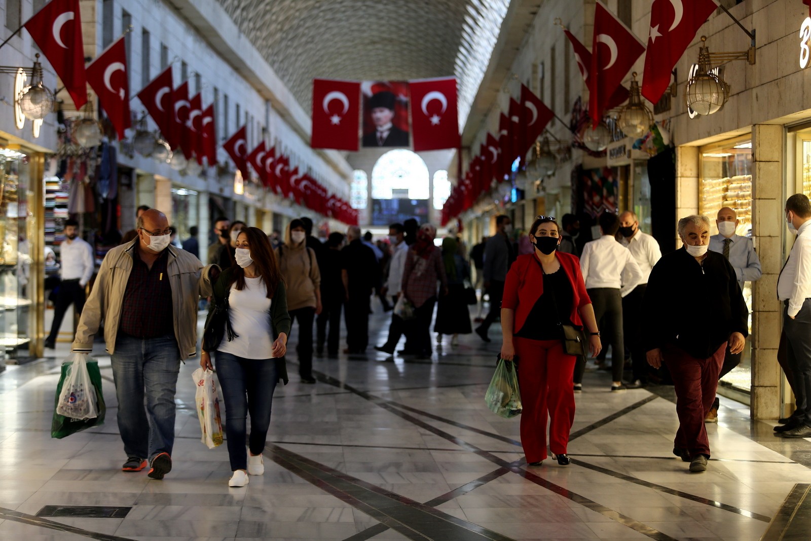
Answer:
M757 257L752 239L735 233L740 222L737 213L732 208L724 207L719 210L715 225L718 225L719 234L710 237L710 251L723 254L729 260L732 268L735 269L740 290L743 290L744 281L757 281L762 275L760 259ZM723 367L718 376L719 380L740 364L740 355L740 353L730 353L727 347ZM706 423L718 423L718 407L719 400L718 397L715 397L710 413L704 419Z

